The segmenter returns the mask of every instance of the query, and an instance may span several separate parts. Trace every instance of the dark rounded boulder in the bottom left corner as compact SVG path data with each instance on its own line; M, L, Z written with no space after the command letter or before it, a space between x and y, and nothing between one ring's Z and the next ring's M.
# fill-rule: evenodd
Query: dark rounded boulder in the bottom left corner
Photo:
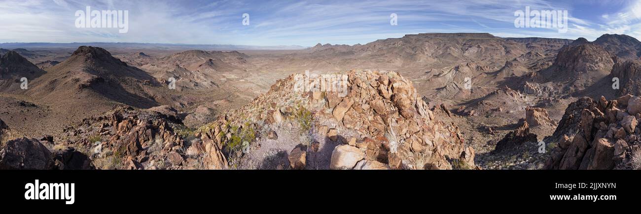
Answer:
M22 137L0 150L0 169L48 169L51 151L37 139Z

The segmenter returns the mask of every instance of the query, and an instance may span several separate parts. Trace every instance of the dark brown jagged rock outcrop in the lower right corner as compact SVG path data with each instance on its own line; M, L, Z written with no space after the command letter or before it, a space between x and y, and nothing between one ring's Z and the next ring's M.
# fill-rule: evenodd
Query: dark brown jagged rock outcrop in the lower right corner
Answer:
M585 97L571 103L553 136L544 140L558 144L545 168L631 169L633 151L641 147L637 127L641 114L630 114L636 107L626 100L636 99Z

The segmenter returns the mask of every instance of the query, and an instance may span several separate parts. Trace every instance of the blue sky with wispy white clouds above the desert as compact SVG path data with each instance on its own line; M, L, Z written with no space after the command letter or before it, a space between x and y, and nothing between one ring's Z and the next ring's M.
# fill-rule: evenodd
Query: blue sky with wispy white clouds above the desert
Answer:
M76 27L76 11L126 10L128 31ZM567 32L515 27L515 11L567 10ZM244 25L249 15L248 25ZM392 13L396 25L390 24ZM641 0L163 1L0 0L0 43L365 44L417 33L641 39ZM247 23L246 23L247 24Z

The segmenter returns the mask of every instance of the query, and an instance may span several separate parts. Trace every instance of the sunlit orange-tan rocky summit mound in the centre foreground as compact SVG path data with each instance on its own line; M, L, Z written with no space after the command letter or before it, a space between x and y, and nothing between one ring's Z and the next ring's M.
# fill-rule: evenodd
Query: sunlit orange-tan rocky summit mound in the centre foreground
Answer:
M256 169L354 169L360 162L389 169L474 167L474 149L466 147L456 126L435 117L408 79L369 70L344 75L345 96L296 91L294 75L279 80L253 102L201 128L203 142L222 148L233 165ZM274 132L277 140L269 137ZM298 144L306 151L294 149ZM269 158L290 151L290 160ZM292 163L301 152L312 162Z

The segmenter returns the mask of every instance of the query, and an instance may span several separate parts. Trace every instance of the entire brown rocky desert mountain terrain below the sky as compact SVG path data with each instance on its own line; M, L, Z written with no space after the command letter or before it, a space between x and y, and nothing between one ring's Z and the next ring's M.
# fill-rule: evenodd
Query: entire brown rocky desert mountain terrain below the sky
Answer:
M641 166L641 42L626 35L423 33L301 50L5 46L0 169ZM345 75L345 93L297 91L305 71Z

